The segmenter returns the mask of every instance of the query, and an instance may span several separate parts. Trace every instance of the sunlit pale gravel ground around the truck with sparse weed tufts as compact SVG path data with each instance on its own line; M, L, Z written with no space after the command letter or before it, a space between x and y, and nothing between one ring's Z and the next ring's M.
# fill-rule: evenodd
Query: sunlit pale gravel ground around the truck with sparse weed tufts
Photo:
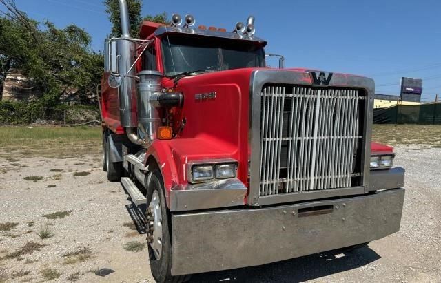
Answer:
M407 170L400 232L349 253L198 274L192 282L441 282L441 149L407 145L396 153L395 165ZM24 179L30 176L42 178ZM57 275L52 281L154 282L143 224L121 185L106 181L98 154L0 158L0 200L0 224L18 223L0 231L0 282ZM53 235L41 239L45 227ZM43 246L25 253L28 242ZM143 250L127 251L128 242ZM114 272L100 277L99 269Z

